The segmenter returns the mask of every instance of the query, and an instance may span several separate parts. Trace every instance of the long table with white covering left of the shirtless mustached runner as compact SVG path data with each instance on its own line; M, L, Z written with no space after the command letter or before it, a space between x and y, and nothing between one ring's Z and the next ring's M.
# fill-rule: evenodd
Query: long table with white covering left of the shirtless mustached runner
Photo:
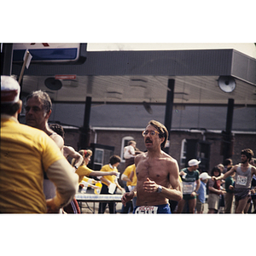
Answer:
M93 202L93 213L95 213L95 203L96 202L107 202L107 201L114 201L114 202L121 202L122 195L95 195L95 194L83 194L77 193L75 195L75 199L79 203L80 212L82 213L82 202Z

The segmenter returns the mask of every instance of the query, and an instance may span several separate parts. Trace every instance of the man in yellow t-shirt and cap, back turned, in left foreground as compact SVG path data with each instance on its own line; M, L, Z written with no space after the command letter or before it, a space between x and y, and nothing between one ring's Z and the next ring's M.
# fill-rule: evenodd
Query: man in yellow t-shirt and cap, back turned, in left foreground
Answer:
M20 85L1 76L0 212L58 212L73 199L79 177L43 131L19 123L21 107ZM57 188L47 201L44 172Z

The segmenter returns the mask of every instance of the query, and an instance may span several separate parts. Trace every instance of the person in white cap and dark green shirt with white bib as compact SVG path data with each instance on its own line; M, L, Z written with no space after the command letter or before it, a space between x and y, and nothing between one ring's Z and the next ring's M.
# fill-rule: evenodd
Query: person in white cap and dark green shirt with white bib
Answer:
M201 161L196 159L189 160L189 167L184 168L179 172L183 181L183 199L177 204L177 213L183 212L185 203L189 203L189 213L195 213L196 194L200 188L198 165ZM196 186L195 186L196 184Z

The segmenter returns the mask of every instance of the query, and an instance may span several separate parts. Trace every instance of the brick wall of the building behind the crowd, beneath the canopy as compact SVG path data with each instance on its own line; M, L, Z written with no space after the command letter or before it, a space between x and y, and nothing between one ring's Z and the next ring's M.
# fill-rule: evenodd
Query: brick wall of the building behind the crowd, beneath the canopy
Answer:
M134 137L137 142L137 148L144 151L146 148L144 146L143 136L141 131L96 131L91 132L90 143L96 143L113 146L114 154L120 155L121 143L123 137ZM203 135L201 133L191 133L183 131L172 131L170 135L170 149L169 154L172 155L180 165L181 156L181 146L183 139L199 139L203 140ZM220 145L221 145L221 135L215 133L206 133L205 139L211 143L211 154L209 162L209 172L211 172L212 167L223 162L223 155L220 155ZM78 130L66 130L65 131L65 143L66 145L73 146L78 150L79 142L79 131ZM256 136L247 134L236 134L234 143L234 155L232 160L234 164L240 162L240 153L243 148L253 149L254 154L256 154ZM124 172L125 164L121 163L119 165L119 172Z

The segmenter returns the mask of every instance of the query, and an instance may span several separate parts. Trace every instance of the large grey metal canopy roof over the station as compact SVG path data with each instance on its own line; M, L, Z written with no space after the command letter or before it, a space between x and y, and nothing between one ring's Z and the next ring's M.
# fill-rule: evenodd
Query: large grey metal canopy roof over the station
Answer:
M13 64L12 74L21 65ZM45 79L61 80L60 90L49 90ZM236 89L220 90L219 76L235 79ZM88 51L83 64L31 63L22 82L22 94L46 90L53 102L166 104L168 79L175 79L174 104L235 105L255 107L256 60L235 49Z

